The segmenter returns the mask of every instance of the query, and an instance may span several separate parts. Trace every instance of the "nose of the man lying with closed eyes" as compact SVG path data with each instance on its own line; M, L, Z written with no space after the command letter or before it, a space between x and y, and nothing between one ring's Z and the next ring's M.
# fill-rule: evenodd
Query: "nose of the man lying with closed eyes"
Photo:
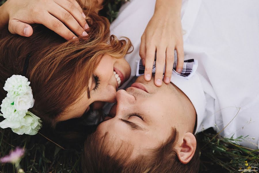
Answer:
M135 103L135 97L130 95L127 91L121 89L116 93L116 100L118 106L130 106Z

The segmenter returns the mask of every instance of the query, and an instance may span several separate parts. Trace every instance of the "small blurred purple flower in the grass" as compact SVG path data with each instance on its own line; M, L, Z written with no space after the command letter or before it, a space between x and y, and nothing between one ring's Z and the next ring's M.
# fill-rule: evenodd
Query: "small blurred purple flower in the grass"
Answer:
M0 158L1 163L17 163L20 162L21 157L24 155L24 148L16 147L14 151L10 151L9 155Z

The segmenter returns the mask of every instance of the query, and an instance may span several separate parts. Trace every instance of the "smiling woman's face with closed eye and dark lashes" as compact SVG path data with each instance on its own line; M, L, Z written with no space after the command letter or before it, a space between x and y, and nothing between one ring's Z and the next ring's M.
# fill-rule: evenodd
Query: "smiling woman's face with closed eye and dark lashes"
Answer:
M91 76L86 91L59 116L58 121L81 117L90 109L89 105L92 103L94 109L99 109L104 104L102 102L115 102L118 87L129 79L130 74L130 65L124 58L116 59L104 55Z

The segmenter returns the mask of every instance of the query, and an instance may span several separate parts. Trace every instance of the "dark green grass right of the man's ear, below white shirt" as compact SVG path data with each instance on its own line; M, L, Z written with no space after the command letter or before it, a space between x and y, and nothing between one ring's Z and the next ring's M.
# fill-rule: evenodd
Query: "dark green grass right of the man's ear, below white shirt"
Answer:
M240 146L237 142L246 140L248 136L234 139L217 136L212 129L197 134L201 147L200 172L238 172L239 164L253 163L259 168L258 150Z

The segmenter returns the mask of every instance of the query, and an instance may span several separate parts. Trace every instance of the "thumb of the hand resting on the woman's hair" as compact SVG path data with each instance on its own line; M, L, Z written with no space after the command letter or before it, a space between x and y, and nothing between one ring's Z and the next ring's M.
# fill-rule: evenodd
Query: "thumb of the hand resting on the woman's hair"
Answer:
M33 33L31 25L16 19L9 20L8 30L12 34L18 34L24 37L30 37Z

